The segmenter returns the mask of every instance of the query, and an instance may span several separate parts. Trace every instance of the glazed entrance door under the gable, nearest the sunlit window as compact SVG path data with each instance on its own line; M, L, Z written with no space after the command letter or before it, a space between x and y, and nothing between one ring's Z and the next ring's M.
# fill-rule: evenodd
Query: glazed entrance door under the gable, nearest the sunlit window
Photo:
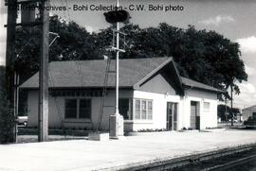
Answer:
M167 130L177 129L177 103L167 102L166 128Z

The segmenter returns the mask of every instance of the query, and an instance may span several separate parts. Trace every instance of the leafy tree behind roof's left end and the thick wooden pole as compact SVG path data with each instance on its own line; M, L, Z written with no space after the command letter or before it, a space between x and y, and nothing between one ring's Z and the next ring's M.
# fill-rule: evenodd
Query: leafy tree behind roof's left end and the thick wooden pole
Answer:
M39 70L41 29L33 27L17 28L15 69L20 74L21 82L27 80ZM75 22L66 22L58 16L50 17L49 31L58 33L57 39L49 48L49 61L54 60L92 60L99 58L99 46L96 35L90 34ZM50 42L53 35L49 35Z

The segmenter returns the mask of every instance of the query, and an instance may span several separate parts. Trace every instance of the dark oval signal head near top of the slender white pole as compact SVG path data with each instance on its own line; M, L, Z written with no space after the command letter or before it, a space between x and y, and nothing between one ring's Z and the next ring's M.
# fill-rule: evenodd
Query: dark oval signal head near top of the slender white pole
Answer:
M126 10L111 10L104 13L107 23L116 24L118 22L125 23L130 19L130 14Z

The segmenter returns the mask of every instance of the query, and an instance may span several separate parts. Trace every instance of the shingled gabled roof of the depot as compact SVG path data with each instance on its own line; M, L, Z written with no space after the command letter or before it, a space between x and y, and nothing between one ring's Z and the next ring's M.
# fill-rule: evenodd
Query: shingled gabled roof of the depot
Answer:
M106 60L68 60L49 63L49 88L99 88L103 86ZM174 66L176 79L180 86L187 85L198 89L221 92L218 89L179 77L172 58L147 58L119 60L119 87L136 88L137 85L168 64ZM111 60L110 70L115 71L116 60ZM37 89L39 74L27 79L20 87L22 89ZM115 74L109 74L108 87L115 87Z

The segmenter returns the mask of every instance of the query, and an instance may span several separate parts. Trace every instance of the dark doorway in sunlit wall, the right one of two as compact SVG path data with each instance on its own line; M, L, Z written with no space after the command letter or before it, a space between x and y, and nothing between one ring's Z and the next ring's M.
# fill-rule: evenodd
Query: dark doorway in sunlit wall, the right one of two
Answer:
M200 129L199 104L196 101L191 102L191 128Z

